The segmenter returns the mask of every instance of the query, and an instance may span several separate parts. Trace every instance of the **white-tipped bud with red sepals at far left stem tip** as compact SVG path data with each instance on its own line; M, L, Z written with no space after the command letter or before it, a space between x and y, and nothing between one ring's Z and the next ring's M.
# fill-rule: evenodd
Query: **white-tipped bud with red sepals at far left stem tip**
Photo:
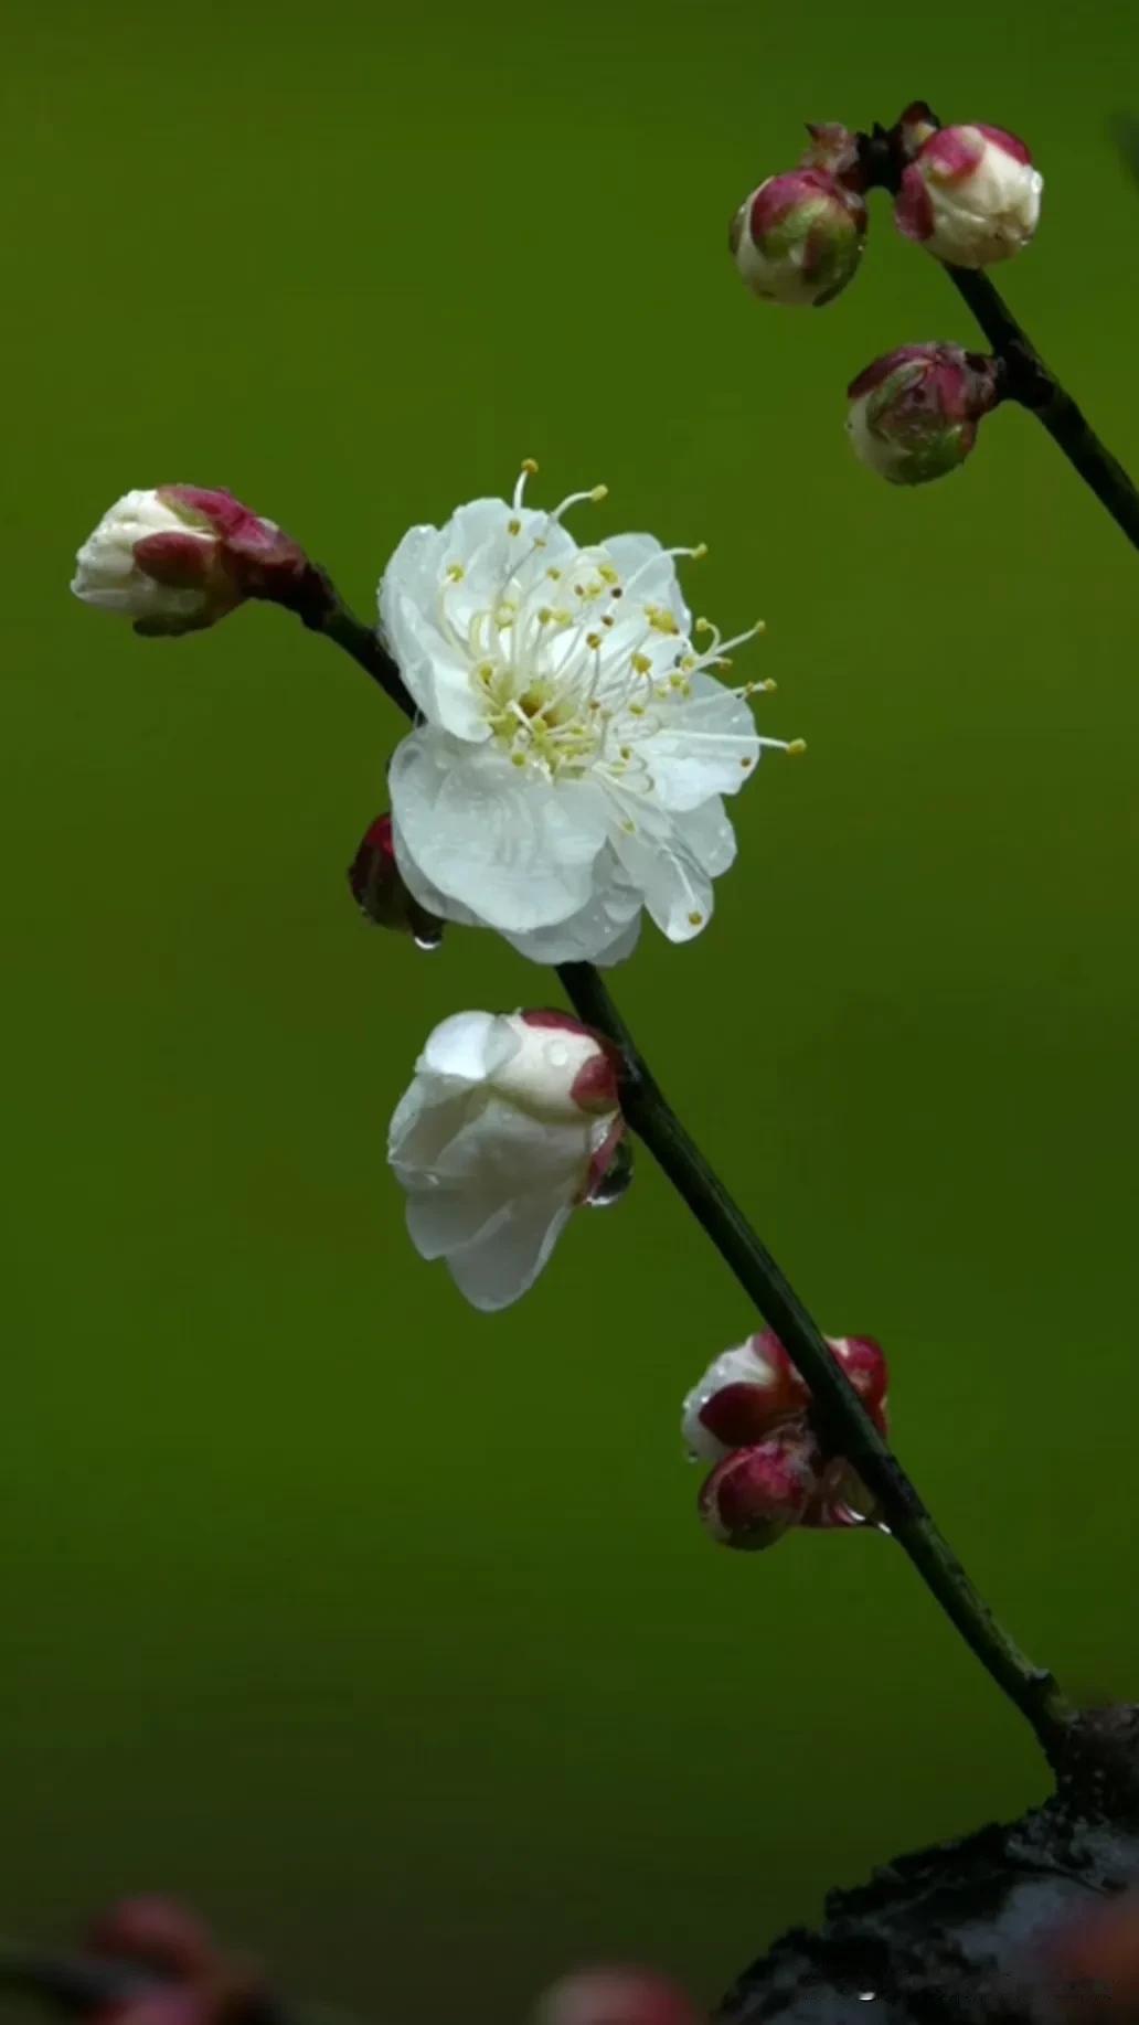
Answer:
M79 549L71 589L154 636L201 632L245 597L302 614L328 597L320 571L274 520L205 486L124 494Z

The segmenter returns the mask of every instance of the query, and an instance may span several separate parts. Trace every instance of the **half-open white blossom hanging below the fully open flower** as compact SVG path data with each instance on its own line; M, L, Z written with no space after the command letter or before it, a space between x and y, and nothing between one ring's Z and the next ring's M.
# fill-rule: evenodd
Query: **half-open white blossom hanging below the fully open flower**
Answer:
M407 1229L474 1308L537 1280L570 1213L620 1144L616 1069L561 1012L454 1012L432 1033L391 1120Z

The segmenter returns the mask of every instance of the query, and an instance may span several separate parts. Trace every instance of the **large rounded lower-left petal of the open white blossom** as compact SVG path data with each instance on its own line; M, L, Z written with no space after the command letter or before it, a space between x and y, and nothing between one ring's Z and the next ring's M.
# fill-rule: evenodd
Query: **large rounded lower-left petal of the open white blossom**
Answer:
M590 899L606 820L590 782L523 780L497 747L422 727L397 747L389 784L399 865L411 861L446 903L525 934Z

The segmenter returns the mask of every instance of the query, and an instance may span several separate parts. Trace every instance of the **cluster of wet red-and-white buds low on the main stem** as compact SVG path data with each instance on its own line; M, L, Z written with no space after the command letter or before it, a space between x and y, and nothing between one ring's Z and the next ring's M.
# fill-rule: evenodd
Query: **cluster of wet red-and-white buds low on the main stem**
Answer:
M874 1336L827 1336L876 1428L886 1434L886 1357ZM790 1527L874 1523L874 1501L843 1456L823 1444L811 1391L766 1328L705 1371L685 1399L689 1454L715 1468L699 1517L724 1547L774 1547Z

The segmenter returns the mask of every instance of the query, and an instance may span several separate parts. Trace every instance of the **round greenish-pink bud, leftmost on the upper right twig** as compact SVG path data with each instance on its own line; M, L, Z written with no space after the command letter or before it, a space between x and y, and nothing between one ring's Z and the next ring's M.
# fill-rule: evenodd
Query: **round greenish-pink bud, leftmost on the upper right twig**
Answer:
M853 279L865 245L865 205L825 168L768 176L728 235L744 281L764 302L823 308Z

